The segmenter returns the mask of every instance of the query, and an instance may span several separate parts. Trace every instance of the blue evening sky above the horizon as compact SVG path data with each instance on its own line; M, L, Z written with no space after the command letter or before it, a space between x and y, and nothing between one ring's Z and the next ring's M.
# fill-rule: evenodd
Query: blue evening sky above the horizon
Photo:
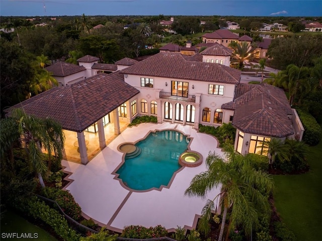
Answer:
M0 0L1 16L82 14L313 17L322 0Z

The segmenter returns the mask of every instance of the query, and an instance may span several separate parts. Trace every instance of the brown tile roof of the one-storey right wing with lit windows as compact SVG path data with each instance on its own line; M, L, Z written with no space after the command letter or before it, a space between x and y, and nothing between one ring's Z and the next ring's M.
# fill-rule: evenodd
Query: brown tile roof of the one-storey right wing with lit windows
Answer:
M268 84L240 84L236 87L233 102L223 104L222 109L234 110L232 124L246 133L272 137L293 134L292 115L283 90Z

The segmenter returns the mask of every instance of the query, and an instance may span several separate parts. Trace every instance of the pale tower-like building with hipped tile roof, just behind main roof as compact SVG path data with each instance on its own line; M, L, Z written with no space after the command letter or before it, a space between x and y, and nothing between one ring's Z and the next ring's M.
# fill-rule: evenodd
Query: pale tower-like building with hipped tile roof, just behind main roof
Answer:
M206 48L200 54L203 57L203 62L219 63L229 66L232 50L219 43L214 43L212 46Z

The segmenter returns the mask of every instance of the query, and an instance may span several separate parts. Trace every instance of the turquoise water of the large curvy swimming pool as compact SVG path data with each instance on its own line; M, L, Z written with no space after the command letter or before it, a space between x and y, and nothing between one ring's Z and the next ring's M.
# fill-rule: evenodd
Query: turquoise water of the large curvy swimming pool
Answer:
M178 158L187 150L190 138L174 130L150 132L135 145L141 153L126 158L116 171L119 179L134 190L147 190L168 186L172 176L181 166Z

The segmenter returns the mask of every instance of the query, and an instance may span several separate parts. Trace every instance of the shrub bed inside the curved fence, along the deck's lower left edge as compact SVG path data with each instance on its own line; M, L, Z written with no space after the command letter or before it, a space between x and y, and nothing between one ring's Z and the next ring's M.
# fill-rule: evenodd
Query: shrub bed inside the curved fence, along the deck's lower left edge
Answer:
M82 209L68 192L57 188L46 187L43 190L45 197L55 200L61 209L71 218L78 221L82 217Z

